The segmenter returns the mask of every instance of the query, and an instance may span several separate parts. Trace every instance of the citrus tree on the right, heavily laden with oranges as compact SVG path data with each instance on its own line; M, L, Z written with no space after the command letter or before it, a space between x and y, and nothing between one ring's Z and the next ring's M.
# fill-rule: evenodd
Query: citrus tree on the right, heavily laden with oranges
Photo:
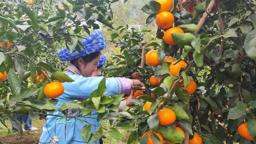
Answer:
M127 143L256 142L255 9L254 0L149 1L141 10L158 25L151 43L116 29L121 54L107 74L146 85L123 109Z

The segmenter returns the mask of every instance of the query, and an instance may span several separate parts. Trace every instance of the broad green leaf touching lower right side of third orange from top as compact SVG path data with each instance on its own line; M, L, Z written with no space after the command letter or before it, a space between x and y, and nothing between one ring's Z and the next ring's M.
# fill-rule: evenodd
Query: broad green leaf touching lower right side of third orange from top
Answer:
M179 46L190 46L191 42L197 38L192 33L172 33L172 39Z

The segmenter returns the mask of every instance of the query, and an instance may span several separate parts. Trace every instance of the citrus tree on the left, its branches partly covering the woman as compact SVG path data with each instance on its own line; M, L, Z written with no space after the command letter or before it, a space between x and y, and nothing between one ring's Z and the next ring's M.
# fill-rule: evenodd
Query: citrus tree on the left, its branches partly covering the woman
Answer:
M22 136L21 123L15 118L17 114L30 114L33 120L38 116L46 118L49 115L47 112L57 110L55 105L58 100L54 98L64 92L61 82L73 80L61 72L65 68L57 67L56 48L67 47L70 52L76 48L81 52L81 48L85 47L79 41L83 38L80 34L89 34L90 30L100 28L99 22L113 29L110 6L116 1L67 0L58 4L55 0L0 2L0 121L6 128L5 120L8 119ZM114 112L122 95L105 96L104 84L105 79L87 101L64 103L58 110L67 115L68 109L75 111L80 108L82 117L95 118L91 116L91 111L97 111L99 119L118 119L119 114ZM88 128L90 124L81 133L87 132ZM108 132L115 136L119 134L115 128L108 129ZM101 138L102 128L99 127L96 133L83 135L83 138L90 137L89 142L95 142Z

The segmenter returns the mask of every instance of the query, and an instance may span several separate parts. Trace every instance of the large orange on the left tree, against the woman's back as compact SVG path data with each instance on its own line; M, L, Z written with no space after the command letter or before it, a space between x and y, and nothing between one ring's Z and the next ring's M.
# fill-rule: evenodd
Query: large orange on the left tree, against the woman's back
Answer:
M56 98L64 93L64 86L59 81L53 81L44 87L44 94L48 98Z

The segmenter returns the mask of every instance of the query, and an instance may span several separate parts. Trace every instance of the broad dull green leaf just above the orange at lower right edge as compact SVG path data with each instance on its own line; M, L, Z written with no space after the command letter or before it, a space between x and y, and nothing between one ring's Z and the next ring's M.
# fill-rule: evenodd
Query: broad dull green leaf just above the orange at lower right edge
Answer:
M246 111L246 104L239 101L236 103L236 106L229 109L228 119L238 119L240 118Z

